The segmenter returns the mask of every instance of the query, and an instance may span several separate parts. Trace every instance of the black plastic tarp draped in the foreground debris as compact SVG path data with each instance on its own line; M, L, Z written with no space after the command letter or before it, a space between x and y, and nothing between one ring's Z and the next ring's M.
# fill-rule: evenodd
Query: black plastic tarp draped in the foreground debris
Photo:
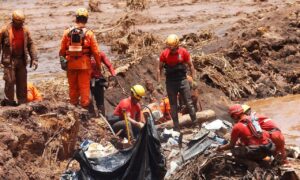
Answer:
M115 154L87 159L83 150L75 153L80 171L65 172L61 179L89 180L159 180L166 173L165 157L161 153L158 134L152 121L148 121L140 132L133 148Z

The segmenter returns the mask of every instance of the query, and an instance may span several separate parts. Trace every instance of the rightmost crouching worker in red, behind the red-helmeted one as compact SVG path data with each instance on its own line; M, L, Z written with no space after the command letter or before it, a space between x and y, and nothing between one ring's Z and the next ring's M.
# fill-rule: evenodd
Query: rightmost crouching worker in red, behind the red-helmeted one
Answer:
M285 151L285 140L281 130L278 128L274 120L263 116L258 115L254 112L251 112L251 107L248 105L242 105L244 113L250 115L252 120L255 120L259 123L261 129L267 131L270 135L270 139L275 144L275 157L280 156L282 164L287 164L287 157Z

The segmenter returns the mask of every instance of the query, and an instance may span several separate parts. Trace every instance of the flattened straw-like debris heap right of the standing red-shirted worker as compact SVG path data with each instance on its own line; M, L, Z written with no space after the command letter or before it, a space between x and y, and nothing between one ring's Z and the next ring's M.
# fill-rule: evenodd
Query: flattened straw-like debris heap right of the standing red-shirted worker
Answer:
M228 60L218 54L194 55L195 68L201 73L200 79L206 84L221 89L231 99L254 94L254 83Z

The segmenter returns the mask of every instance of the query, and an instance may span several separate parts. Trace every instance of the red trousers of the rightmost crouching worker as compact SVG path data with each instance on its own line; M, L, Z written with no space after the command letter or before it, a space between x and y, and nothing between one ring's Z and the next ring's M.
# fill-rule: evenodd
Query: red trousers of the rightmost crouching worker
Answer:
M282 133L280 131L273 131L270 133L270 138L276 146L275 149L276 155L281 153L282 159L285 161L286 160L286 152L284 148L285 141Z

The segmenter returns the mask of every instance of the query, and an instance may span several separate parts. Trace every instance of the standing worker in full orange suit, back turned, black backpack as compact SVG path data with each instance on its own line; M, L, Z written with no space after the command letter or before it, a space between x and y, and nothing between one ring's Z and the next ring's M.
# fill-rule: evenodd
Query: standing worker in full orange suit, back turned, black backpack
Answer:
M99 47L94 33L86 28L88 11L76 11L76 25L64 31L59 56L66 62L70 103L88 109L90 103L91 56L100 68ZM64 61L62 61L62 59Z

